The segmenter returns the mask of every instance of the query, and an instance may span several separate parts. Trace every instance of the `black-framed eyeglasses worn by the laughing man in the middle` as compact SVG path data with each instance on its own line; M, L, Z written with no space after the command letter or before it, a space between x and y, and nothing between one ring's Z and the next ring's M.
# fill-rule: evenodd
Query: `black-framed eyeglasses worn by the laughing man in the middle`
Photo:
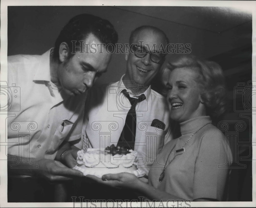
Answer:
M161 63L165 57L162 53L148 52L145 48L138 47L136 44L131 45L130 52L138 58L144 58L149 53L150 60L157 64Z

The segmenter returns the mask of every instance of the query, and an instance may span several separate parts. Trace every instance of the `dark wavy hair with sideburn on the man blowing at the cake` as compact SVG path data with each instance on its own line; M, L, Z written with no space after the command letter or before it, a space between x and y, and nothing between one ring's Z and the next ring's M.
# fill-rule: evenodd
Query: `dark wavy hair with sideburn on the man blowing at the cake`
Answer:
M108 20L90 14L80 14L70 19L68 24L60 31L55 41L54 59L59 59L59 47L62 42L68 44L68 58L70 58L74 55L74 53L71 53L73 47L71 41L84 40L90 33L104 44L116 44L118 41L118 34Z

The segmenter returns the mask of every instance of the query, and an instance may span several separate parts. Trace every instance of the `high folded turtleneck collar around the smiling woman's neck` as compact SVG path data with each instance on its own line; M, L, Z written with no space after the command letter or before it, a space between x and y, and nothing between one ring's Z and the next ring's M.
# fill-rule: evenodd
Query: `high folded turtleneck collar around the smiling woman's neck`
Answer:
M180 123L180 133L188 134L200 129L206 123L211 122L209 116L200 116Z

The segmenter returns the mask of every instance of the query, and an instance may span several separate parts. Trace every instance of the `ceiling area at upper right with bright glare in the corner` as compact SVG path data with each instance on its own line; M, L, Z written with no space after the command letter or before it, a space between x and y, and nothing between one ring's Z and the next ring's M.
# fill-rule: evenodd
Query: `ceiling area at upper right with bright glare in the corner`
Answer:
M213 33L222 33L252 21L252 14L231 7L112 6L112 8Z

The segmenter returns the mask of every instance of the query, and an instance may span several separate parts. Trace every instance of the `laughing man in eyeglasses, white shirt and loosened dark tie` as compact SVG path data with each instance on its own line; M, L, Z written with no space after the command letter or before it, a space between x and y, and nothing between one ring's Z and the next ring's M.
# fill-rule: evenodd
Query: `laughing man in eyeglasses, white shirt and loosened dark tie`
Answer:
M157 152L170 138L165 98L151 89L167 44L165 33L156 27L141 26L131 32L126 73L119 82L91 89L83 145L80 142L76 146L85 150L110 145L133 149L138 152L139 168L147 174Z

